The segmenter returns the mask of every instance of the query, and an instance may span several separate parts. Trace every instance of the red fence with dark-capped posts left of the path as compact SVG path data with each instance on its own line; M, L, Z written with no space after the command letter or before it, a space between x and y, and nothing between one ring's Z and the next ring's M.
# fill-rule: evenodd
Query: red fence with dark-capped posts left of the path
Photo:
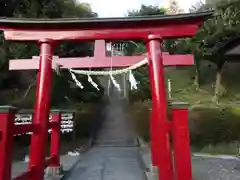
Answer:
M21 114L21 113L20 113ZM29 117L17 113L17 109L11 106L0 106L0 180L11 180L12 169L12 151L13 151L13 136L19 134L39 132L38 124L31 123L32 114ZM66 118L67 117L67 118ZM61 110L52 110L50 113L48 130L51 133L50 142L50 157L45 159L44 167L53 169L53 173L59 172L60 169L60 134L64 129L69 129L71 119L73 128L74 112L63 112ZM68 125L68 126L65 126ZM65 126L65 127L64 127ZM42 147L39 147L42 148ZM44 151L44 149L43 149ZM26 180L29 177L34 179L35 168L38 164L29 167L28 171L17 176L13 180Z

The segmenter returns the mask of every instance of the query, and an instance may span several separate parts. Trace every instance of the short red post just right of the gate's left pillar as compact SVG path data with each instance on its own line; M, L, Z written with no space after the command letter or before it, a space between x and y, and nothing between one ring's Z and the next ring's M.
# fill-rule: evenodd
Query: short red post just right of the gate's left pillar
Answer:
M61 135L61 112L52 112L52 122L55 122L51 131L50 156L54 157L50 167L60 167L60 135Z

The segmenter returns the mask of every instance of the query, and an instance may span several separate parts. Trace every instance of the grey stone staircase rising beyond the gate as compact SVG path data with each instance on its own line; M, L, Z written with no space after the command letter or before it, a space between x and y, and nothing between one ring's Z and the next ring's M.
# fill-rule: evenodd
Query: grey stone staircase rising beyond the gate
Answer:
M102 128L94 140L96 146L137 146L137 138L124 109L125 105L121 100L114 100L105 108Z

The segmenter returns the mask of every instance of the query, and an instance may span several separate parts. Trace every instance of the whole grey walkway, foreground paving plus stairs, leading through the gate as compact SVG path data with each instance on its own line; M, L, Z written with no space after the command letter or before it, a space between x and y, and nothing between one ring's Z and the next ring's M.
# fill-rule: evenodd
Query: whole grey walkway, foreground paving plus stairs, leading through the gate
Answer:
M66 179L145 180L136 137L124 113L124 104L113 100L104 115L95 146L81 156Z

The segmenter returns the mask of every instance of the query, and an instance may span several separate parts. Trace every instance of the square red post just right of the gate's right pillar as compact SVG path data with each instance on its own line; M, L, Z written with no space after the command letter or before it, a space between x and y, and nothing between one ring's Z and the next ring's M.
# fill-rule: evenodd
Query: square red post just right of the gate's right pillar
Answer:
M176 180L192 180L188 110L173 109L172 122Z

